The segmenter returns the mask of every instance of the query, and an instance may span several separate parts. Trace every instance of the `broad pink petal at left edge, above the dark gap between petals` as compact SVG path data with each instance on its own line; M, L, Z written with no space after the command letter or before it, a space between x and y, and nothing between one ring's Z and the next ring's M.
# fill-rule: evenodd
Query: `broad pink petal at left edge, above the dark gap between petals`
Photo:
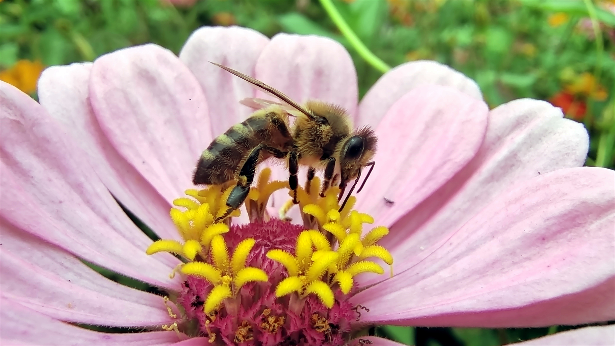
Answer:
M145 254L151 239L128 219L85 153L44 109L4 82L0 104L4 220L102 267L177 286L168 276L177 259Z

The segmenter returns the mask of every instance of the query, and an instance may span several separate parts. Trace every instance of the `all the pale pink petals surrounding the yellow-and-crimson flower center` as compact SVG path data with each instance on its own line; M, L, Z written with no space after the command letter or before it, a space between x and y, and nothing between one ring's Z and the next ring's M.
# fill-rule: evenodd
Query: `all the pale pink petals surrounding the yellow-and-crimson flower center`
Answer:
M170 302L79 259L184 291L183 279L169 278L179 261L146 255L151 240L116 199L161 238L180 239L173 199L192 187L213 137L250 114L238 101L256 95L207 60L300 102L334 102L355 127L376 129L376 166L354 207L390 229L379 244L394 276L357 276L368 288L347 302L369 312L352 328L615 319L615 172L580 167L587 132L559 108L523 99L489 111L474 81L435 62L397 66L357 103L352 60L334 41L201 28L180 58L147 45L48 68L40 105L0 85L2 344L207 344L62 322L152 330L177 322ZM270 207L285 199L276 193Z

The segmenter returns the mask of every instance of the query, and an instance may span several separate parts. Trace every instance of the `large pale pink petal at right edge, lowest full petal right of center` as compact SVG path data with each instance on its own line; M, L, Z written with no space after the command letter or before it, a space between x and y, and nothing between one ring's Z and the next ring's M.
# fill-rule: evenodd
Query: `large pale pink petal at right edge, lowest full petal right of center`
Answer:
M615 172L526 180L352 298L361 323L538 327L615 319Z

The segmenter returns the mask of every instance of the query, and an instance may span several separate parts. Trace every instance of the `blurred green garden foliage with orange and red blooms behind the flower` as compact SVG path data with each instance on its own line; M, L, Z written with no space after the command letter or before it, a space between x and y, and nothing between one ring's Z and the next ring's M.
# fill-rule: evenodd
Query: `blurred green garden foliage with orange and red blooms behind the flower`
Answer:
M477 81L490 107L522 97L552 100L589 130L587 164L613 167L615 15L608 9L615 8L615 2L333 4L360 41L389 66L421 59L450 65ZM381 76L313 0L197 1L177 7L158 0L5 0L0 2L0 68L6 70L20 59L41 60L47 66L91 61L146 42L177 54L189 34L203 25L247 26L270 37L284 31L333 38L354 59L360 95ZM110 278L116 275L99 269ZM153 290L134 281L125 284ZM504 345L563 329L383 326L371 332L404 344Z

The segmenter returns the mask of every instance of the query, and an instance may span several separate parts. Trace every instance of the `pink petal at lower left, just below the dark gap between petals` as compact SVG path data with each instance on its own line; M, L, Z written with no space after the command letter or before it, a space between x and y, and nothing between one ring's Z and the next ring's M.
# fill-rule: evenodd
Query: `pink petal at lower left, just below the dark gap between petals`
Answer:
M173 323L162 297L107 280L68 252L2 220L0 230L4 297L64 321L106 326Z

